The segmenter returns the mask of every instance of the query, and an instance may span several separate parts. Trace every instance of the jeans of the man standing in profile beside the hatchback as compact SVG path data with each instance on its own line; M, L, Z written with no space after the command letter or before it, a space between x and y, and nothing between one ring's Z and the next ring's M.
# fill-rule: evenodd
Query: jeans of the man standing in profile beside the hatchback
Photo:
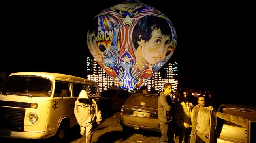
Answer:
M160 123L161 138L159 143L174 143L175 125L173 123Z

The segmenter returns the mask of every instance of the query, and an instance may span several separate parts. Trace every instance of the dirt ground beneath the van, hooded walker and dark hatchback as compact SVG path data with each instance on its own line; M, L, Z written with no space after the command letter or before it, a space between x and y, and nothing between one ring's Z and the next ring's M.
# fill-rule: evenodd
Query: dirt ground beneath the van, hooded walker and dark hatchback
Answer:
M120 112L110 114L108 117L104 117L100 125L94 125L92 131L92 143L158 143L161 132L150 131L137 131L132 130L128 134L122 132L122 126L120 125ZM68 143L85 143L85 136L80 135L79 126L75 126L68 130ZM1 140L3 138L0 138ZM178 143L179 137L175 139L175 143ZM8 143L51 143L49 139L10 139L4 138Z

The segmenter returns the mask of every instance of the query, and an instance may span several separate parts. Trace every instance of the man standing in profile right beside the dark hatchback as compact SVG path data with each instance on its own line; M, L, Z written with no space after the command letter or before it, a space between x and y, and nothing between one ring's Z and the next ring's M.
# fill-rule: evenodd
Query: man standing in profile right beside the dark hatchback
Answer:
M164 84L164 90L158 98L158 123L162 134L159 143L174 143L175 123L174 107L171 106L171 91L171 83Z

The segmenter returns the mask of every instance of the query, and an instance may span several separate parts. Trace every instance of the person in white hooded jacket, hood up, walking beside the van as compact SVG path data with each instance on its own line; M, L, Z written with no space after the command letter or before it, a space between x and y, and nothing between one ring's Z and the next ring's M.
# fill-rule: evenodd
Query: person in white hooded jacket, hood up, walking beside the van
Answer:
M80 125L80 134L86 136L86 143L90 143L92 138L92 126L95 123L95 119L97 124L100 125L102 116L96 101L89 99L85 90L81 90L75 101L74 113L77 123Z

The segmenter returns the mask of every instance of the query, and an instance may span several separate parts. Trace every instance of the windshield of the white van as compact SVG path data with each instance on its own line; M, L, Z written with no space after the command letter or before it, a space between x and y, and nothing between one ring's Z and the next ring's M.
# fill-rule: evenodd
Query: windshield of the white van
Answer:
M52 82L49 79L19 75L8 77L0 88L0 92L7 96L49 97L52 92L51 88Z

